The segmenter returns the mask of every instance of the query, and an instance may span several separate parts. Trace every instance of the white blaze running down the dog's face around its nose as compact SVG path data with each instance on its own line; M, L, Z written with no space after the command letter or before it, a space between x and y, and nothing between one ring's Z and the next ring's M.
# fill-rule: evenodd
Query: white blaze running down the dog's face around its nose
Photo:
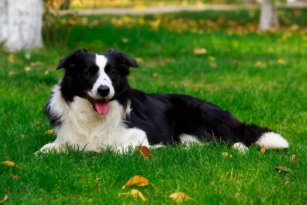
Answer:
M95 63L98 66L98 78L92 88L92 90L89 92L89 95L93 99L101 99L101 96L98 94L97 89L99 86L107 86L110 89L110 93L105 98L111 99L114 96L114 88L112 86L112 81L109 78L109 76L105 73L104 68L107 64L107 58L104 55L98 55L96 54Z

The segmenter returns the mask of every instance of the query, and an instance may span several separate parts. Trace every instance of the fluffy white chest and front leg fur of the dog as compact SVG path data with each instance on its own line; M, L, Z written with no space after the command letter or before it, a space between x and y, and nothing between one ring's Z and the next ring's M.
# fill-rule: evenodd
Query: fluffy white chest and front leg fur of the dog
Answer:
M53 89L50 109L54 115L61 116L62 124L54 128L56 140L43 146L41 152L60 151L65 146L96 152L106 148L122 152L130 146L149 147L144 131L125 126L124 117L130 108L124 110L117 100L110 101L107 114L99 115L88 100L78 96L68 105L57 85Z

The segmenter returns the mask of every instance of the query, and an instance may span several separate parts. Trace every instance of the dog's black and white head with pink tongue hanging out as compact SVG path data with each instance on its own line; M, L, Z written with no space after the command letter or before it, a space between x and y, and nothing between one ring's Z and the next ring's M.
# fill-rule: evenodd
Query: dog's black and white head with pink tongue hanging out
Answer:
M123 52L109 49L90 53L83 48L61 59L56 69L65 69L62 83L70 95L86 98L97 113L104 115L109 101L127 87L129 67L138 68L139 64Z

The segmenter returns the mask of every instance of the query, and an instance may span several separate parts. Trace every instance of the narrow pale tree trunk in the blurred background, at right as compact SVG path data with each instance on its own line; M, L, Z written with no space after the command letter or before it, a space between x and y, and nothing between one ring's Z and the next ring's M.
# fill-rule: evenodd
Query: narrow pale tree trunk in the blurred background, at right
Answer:
M261 4L259 29L268 30L269 28L279 28L277 8L274 0L263 0Z

